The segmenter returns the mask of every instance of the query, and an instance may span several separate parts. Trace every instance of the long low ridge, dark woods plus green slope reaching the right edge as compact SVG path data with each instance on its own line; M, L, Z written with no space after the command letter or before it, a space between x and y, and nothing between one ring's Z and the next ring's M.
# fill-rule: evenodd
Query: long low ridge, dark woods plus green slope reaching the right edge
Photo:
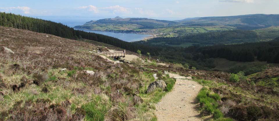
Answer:
M167 45L174 47L188 47L192 45L216 45L216 44L242 44L248 42L270 41L279 36L279 27L255 30L227 30L221 32L206 32L191 35L181 35L178 37L158 37L137 43Z

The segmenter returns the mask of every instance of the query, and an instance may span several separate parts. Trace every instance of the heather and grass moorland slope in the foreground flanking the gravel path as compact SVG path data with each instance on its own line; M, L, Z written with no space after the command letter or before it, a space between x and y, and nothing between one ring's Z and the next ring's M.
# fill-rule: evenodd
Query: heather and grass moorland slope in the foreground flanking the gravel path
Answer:
M2 26L0 35L0 46L14 52L5 52L3 48L0 51L1 120L156 121L155 104L173 86L191 82L176 83L164 71L191 76L204 86L194 104L201 107L199 116L205 119L278 119L278 91L268 85L253 85L241 73L240 81L233 82L229 73L189 70L180 64L169 63L168 67L142 61L114 64L95 54L94 50L100 47L86 42ZM90 75L85 70L95 73ZM153 74L167 87L146 93L148 85L155 81ZM178 93L185 95L183 91ZM191 110L199 111L195 107ZM255 111L257 115L250 115Z

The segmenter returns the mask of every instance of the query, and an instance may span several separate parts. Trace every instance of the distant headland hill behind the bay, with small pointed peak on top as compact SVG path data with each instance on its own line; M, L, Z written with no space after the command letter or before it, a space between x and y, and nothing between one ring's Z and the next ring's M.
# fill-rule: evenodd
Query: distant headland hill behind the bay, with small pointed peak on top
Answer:
M82 26L75 26L79 29L89 29L89 30L109 30L109 31L118 31L118 30L134 30L134 29L146 29L146 28L159 28L174 26L178 24L174 21L166 20L156 20L156 19L147 19L147 18L109 18L109 19L100 19L97 21L86 22Z

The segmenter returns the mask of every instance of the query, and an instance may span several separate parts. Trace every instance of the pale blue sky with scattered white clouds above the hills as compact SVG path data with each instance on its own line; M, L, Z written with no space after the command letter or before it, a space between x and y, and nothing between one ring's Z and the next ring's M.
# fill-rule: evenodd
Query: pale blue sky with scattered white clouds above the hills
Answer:
M279 0L0 0L1 12L31 17L189 17L279 14Z

